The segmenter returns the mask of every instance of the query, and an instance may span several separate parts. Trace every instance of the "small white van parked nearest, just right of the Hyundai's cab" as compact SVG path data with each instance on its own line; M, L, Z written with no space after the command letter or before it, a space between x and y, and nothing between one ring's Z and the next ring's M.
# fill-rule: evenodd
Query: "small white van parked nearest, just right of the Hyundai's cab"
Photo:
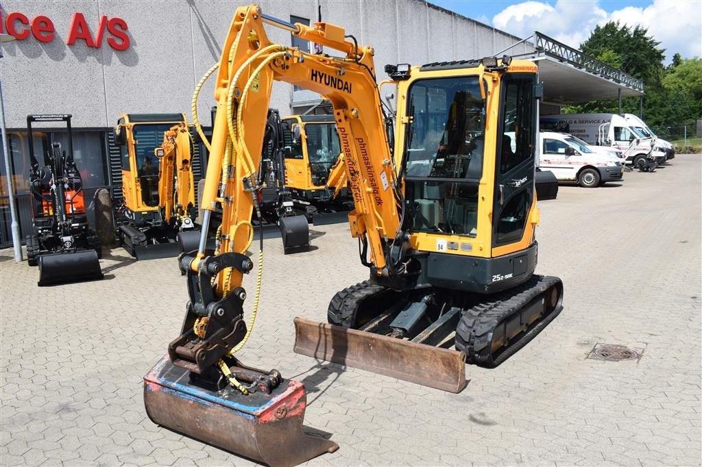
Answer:
M601 187L623 180L623 158L595 151L567 133L539 133L539 165L557 180L578 182L581 187Z

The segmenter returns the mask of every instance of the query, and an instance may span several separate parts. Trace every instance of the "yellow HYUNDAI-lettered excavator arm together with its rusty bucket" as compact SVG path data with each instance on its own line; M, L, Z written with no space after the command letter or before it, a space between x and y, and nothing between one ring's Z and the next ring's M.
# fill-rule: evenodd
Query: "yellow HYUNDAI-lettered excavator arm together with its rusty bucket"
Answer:
M274 44L265 24L340 50L343 56L311 55ZM326 23L291 25L252 5L237 9L217 68L217 110L208 142L199 247L178 257L187 274L190 301L180 336L145 377L145 406L157 424L272 465L292 465L331 452L336 443L303 433L302 384L282 379L275 370L246 367L234 355L249 337L258 307L263 241L247 325L242 279L253 269L246 256L253 239L251 215L261 217L256 172L271 88L274 81L285 81L331 100L355 201L349 215L352 234L366 245L364 262L369 247L369 264L378 274L387 273L385 255L399 226L400 196L376 88L373 49L347 40L343 28ZM216 252L208 255L207 232L218 206L223 212Z

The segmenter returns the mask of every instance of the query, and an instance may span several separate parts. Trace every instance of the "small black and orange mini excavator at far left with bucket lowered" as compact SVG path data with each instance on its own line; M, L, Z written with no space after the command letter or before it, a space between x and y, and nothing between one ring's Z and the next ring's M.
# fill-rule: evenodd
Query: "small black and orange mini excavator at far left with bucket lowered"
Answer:
M32 123L66 123L68 151L51 144L42 163L34 153ZM88 226L81 175L73 160L71 115L28 115L29 191L32 234L27 236L27 262L39 266L38 285L102 279L100 238Z

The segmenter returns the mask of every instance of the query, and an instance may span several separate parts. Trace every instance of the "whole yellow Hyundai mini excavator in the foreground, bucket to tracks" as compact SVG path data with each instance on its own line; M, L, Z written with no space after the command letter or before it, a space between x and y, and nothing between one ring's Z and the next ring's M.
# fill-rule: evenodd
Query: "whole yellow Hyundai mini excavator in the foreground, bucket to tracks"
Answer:
M272 43L265 25L338 50ZM296 351L446 391L465 386L465 361L496 366L562 309L558 278L534 275L536 66L510 57L385 67L398 88L390 144L373 48L342 27L309 27L238 8L217 72L216 120L201 200L203 231L223 210L216 251L178 257L190 299L180 335L145 376L157 424L270 465L336 449L303 432L304 386L244 365L251 213L274 81L329 98L355 208L351 234L369 280L331 299L329 325L296 318ZM198 86L198 88L201 85ZM390 150L394 147L394 153ZM448 347L455 344L456 350Z

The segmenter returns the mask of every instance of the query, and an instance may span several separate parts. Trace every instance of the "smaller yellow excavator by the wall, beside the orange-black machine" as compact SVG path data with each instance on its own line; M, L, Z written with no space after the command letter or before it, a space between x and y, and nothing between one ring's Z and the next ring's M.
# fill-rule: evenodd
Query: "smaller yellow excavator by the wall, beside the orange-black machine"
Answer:
M196 248L194 151L185 114L124 114L114 135L122 165L121 245L136 259Z

